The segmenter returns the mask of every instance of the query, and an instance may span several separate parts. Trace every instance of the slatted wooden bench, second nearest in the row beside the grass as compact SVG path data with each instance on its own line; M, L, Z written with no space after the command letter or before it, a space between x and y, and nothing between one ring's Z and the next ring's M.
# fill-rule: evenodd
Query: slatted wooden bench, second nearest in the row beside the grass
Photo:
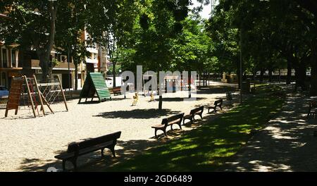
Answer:
M183 117L184 117L184 113L180 113L180 114L177 114L175 116L170 116L168 118L163 118L161 124L152 126L152 128L155 129L155 137L157 137L156 136L156 132L158 130L162 130L164 132L164 135L167 136L166 135L166 128L168 126L170 126L170 130L173 130L173 125L174 124L180 126L180 129L182 129L181 124L182 124L182 118Z

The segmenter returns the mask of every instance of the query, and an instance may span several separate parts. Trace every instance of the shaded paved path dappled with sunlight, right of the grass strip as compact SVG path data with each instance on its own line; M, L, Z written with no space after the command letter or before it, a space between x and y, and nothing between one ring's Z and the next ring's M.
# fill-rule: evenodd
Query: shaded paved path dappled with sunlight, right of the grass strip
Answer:
M221 171L317 171L317 120L307 118L309 100L289 92L281 113Z

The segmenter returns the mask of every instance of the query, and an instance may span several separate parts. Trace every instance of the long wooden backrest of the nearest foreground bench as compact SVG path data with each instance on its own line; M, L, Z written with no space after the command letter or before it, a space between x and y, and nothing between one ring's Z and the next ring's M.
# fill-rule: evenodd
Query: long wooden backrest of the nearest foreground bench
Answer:
M85 140L85 141L82 141L82 142L74 142L74 143L68 144L67 152L78 151L80 149L93 147L93 146L95 146L97 144L102 144L102 143L105 143L105 142L116 143L116 140L118 138L120 138L120 135L121 135L121 132L119 131L119 132L114 132L114 133L111 133L111 134L108 134L108 135L104 135L104 136L101 136L101 137L96 137L96 138L92 138L92 139L89 139L89 140Z

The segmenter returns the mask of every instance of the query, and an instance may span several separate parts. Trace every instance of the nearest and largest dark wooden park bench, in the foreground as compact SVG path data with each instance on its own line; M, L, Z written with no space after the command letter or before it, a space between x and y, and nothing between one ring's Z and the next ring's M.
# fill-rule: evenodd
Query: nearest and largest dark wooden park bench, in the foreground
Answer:
M77 168L77 158L84 154L88 154L93 151L101 150L101 156L104 156L104 149L110 149L113 156L116 157L114 147L117 143L117 139L120 137L121 132L115 132L109 135L92 138L82 142L73 142L68 144L66 152L55 156L56 159L63 161L63 171L65 171L66 161L73 163L74 168Z

